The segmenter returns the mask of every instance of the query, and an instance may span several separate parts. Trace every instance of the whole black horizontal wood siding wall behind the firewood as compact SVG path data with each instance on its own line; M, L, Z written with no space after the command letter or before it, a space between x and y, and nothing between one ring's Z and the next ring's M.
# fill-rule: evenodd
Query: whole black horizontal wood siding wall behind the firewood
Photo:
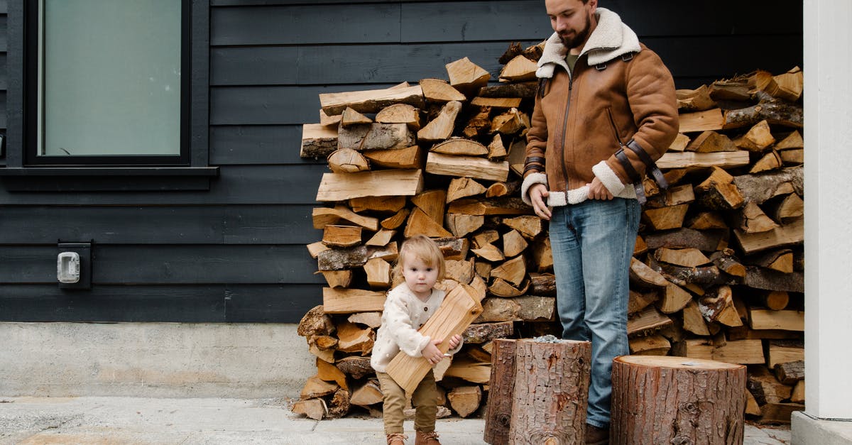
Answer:
M801 2L600 3L678 88L802 64ZM3 109L6 10L0 0ZM324 283L305 245L321 237L310 214L326 167L298 156L317 95L446 78L465 56L496 78L510 42L550 32L542 0L211 0L210 164L221 175L209 192L0 188L0 321L298 321ZM90 291L56 285L57 240L95 241Z

